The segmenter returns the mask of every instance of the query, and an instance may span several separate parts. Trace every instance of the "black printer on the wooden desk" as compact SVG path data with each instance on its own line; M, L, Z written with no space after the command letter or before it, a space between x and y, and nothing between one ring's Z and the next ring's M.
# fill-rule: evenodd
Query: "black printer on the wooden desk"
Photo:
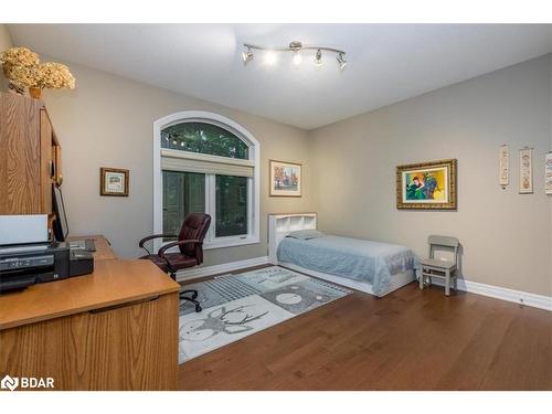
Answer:
M61 280L94 272L91 252L68 243L42 243L0 247L0 293Z

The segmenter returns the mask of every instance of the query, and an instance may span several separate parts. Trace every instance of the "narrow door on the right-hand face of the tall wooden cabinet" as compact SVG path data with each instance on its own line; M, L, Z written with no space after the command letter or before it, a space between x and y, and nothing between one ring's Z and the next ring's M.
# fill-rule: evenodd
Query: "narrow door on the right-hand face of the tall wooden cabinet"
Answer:
M40 112L40 171L41 171L41 212L52 213L52 177L53 177L53 155L52 155L52 124L46 112Z

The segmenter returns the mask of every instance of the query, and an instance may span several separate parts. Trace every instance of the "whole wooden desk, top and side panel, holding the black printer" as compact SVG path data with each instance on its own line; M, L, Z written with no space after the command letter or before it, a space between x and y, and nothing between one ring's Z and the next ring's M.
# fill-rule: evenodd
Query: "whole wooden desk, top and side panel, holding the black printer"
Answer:
M56 390L174 390L180 285L149 261L108 258L106 240L95 237L93 274L0 295L0 378L50 376Z

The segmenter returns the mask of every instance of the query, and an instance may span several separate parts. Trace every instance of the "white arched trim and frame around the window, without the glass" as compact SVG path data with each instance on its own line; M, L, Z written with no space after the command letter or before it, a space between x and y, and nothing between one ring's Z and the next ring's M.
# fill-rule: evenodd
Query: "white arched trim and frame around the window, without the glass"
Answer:
M247 213L251 217L251 230L246 236L230 236L230 237L209 237L204 243L203 248L221 248L231 246L241 246L245 244L254 244L259 242L259 215L261 215L261 142L240 124L234 123L222 115L204 112L204 110L184 110L162 117L153 123L153 233L162 233L163 231L163 214L162 214L162 171L161 171L161 153L167 149L161 150L161 130L168 126L181 123L204 123L219 126L230 130L241 138L250 147L250 160L242 160L235 163L254 164L253 180L248 180L248 193L252 194L247 202ZM202 159L204 155L194 155L193 157ZM215 156L205 156L212 159ZM209 178L208 178L209 179ZM214 179L214 177L213 177ZM209 185L213 188L214 185ZM213 190L214 191L214 190ZM205 205L214 204L213 194L205 192ZM212 210L211 208L209 209ZM210 232L214 233L214 222L211 225ZM162 245L160 240L155 241L153 247L157 251Z

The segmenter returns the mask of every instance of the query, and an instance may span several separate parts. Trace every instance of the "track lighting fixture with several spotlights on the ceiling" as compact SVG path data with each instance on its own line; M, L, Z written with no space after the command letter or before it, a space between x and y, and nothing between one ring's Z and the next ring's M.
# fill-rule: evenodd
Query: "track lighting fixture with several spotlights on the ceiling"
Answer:
M276 52L293 52L293 62L295 65L299 65L302 62L302 55L301 52L304 51L316 51L315 52L315 65L320 66L322 64L322 51L323 52L330 52L330 53L336 53L337 54L337 61L339 64L339 68L343 70L347 66L347 60L346 60L346 52L341 51L339 49L335 47L329 47L329 46L322 46L322 45L314 45L314 44L306 44L304 45L301 42L294 41L289 43L288 46L285 47L265 47L265 46L258 46L255 44L250 44L250 43L244 43L244 47L246 47L245 51L242 52L242 60L243 63L246 64L247 62L252 61L254 55L253 55L253 50L258 50L258 51L266 51L265 55L265 62L267 64L274 64L277 61L277 55Z

